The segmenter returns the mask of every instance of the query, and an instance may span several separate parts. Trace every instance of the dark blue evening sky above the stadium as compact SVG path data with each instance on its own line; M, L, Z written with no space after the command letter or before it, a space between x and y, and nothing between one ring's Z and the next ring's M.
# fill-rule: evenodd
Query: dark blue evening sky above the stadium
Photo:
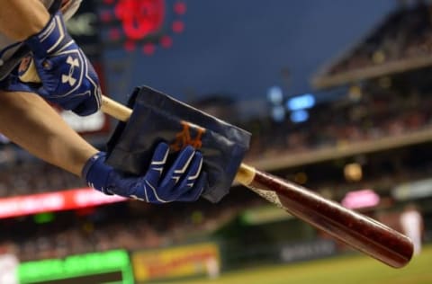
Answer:
M188 101L209 93L240 99L264 97L282 85L285 95L311 91L311 75L358 40L388 13L394 0L189 0L184 33L171 49L148 57L107 52L131 62L126 86L111 81L110 92L125 100L134 85L148 84ZM110 72L110 71L109 71ZM110 74L108 74L110 76ZM121 87L119 88L119 85ZM195 97L193 97L195 96Z

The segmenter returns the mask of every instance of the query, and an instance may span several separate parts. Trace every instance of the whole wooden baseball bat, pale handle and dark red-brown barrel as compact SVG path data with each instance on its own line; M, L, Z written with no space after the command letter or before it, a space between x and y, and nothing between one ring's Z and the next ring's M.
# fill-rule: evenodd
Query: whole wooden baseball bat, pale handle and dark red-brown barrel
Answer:
M34 68L29 71L26 72L28 77L22 77L23 82L40 82ZM128 107L106 96L102 98L102 111L121 121L129 120L132 113ZM410 239L373 218L247 164L240 165L235 179L279 208L378 261L393 268L410 262L413 253Z

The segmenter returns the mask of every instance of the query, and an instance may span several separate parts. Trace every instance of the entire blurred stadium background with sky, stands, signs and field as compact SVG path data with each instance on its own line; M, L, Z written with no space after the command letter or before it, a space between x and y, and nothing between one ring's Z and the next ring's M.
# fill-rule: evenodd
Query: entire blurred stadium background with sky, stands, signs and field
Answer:
M228 120L248 164L401 232L415 208L425 247L393 270L240 186L106 197L1 137L0 283L432 283L428 1L85 0L68 28L104 93L148 84ZM61 113L101 149L116 123Z

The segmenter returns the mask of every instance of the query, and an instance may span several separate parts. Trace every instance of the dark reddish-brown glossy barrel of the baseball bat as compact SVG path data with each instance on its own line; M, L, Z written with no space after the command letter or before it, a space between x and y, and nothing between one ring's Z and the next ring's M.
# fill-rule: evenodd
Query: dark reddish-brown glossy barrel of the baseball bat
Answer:
M410 262L413 253L410 239L370 217L269 173L256 170L248 186L275 191L284 209L293 216L387 265L401 268Z

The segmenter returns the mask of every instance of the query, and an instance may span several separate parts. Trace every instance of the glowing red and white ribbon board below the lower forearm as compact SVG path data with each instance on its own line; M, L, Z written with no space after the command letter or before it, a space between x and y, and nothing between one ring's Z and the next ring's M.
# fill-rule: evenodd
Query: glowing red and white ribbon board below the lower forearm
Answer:
M0 199L0 218L69 209L83 209L127 200L116 195L105 195L91 188Z

